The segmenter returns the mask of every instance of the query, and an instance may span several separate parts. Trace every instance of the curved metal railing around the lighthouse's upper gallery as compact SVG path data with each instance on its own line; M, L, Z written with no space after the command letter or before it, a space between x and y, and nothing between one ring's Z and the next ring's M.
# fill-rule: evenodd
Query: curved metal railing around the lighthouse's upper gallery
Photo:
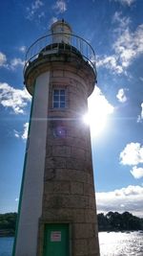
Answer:
M81 38L78 35L72 35L67 33L57 33L57 34L50 34L50 35L44 35L40 38L38 38L35 42L31 44L31 47L28 49L26 54L26 60L25 60L25 66L24 66L24 73L29 66L30 62L32 62L34 59L39 57L39 54L42 52L45 55L48 53L48 51L55 51L55 42L53 43L53 40L55 36L60 36L61 41L56 43L56 51L58 52L61 48L61 43L63 45L63 49L68 49L69 51L73 52L73 48L77 50L78 53L84 58L86 61L89 62L89 64L92 66L94 72L96 73L95 68L95 53L92 49L92 46L89 42L87 42L85 39ZM62 40L63 38L63 40ZM68 38L68 42L65 40L65 38ZM49 50L48 50L49 49Z

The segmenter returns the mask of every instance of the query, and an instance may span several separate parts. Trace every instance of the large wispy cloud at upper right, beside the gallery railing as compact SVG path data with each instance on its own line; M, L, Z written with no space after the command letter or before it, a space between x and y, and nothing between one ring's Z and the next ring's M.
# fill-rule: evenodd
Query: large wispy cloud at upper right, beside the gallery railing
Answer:
M105 66L117 74L127 74L127 68L133 63L134 58L143 54L143 24L131 31L131 19L123 17L121 12L115 12L112 22L117 23L113 34L115 39L112 44L113 54L97 58L97 66Z

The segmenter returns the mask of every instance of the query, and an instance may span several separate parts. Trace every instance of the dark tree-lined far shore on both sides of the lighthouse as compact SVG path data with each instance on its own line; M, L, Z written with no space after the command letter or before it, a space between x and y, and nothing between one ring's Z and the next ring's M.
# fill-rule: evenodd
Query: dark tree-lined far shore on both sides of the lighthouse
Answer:
M0 237L14 237L17 213L0 214ZM129 212L97 214L99 232L143 231L143 219Z

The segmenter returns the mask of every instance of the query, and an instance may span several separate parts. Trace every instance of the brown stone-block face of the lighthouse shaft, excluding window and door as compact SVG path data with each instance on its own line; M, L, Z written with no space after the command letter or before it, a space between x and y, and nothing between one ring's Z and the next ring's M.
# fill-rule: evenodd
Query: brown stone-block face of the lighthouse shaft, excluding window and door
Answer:
M89 84L74 66L56 67L51 72L41 220L70 223L72 256L99 256L90 129L82 121ZM68 98L62 110L52 108L52 88L58 86ZM56 128L64 130L63 136L54 133Z

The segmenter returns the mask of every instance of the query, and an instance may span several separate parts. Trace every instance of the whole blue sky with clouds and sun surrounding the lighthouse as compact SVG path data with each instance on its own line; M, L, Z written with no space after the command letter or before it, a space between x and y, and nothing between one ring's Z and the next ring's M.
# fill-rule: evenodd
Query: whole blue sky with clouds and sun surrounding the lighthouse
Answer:
M26 50L64 18L96 54L89 107L98 212L141 216L143 1L6 0L0 10L0 212L18 205L31 110L23 84Z

